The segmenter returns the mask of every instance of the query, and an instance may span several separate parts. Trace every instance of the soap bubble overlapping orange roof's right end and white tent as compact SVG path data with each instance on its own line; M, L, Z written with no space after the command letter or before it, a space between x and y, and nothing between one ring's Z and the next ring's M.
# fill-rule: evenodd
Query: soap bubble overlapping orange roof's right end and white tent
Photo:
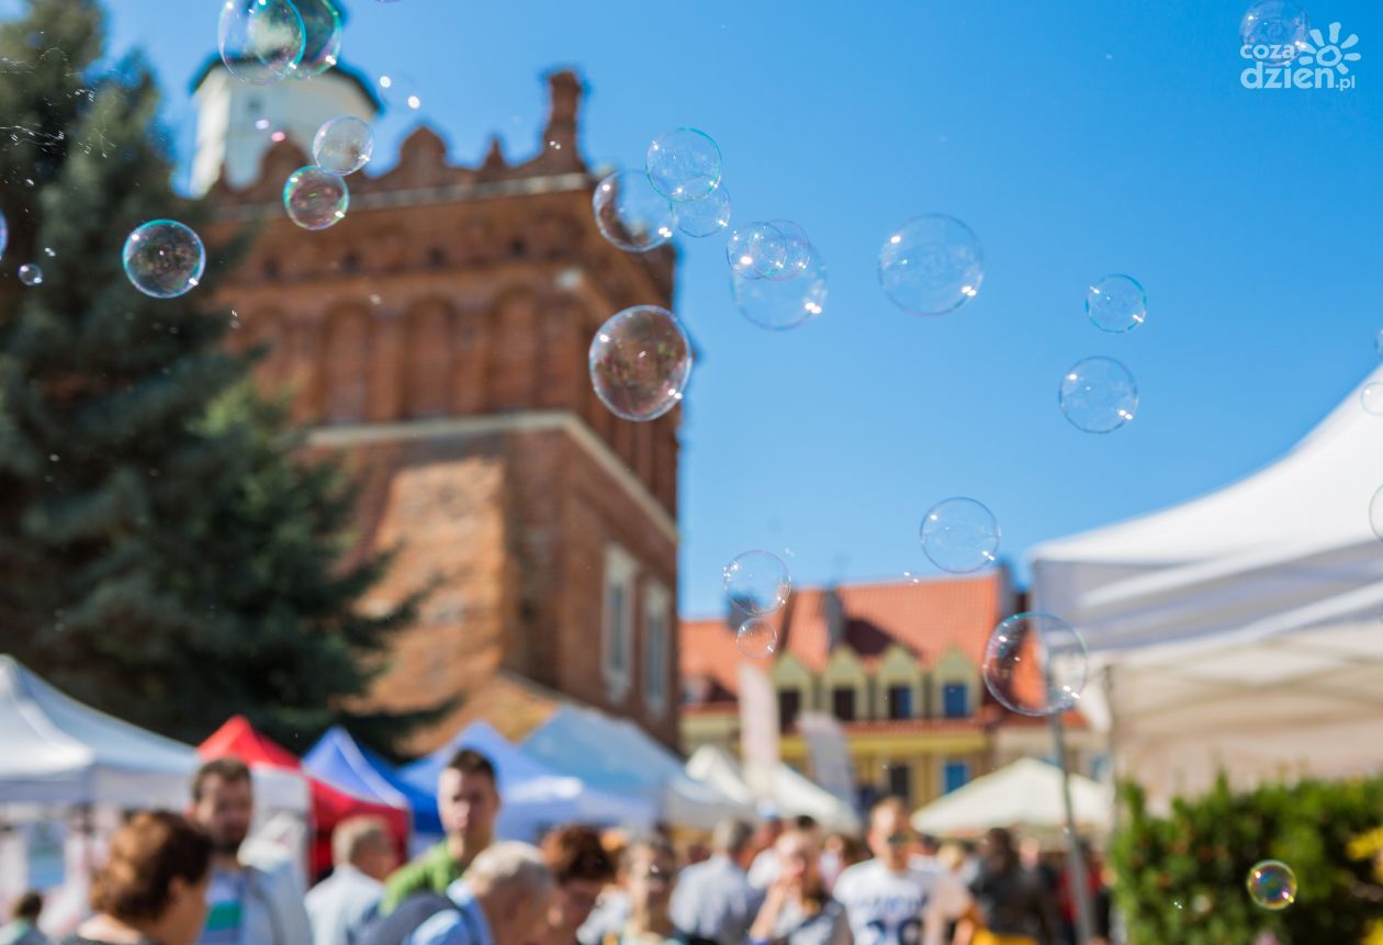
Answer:
M1086 688L1086 641L1061 617L1019 613L994 627L985 646L985 685L1021 715L1072 708Z

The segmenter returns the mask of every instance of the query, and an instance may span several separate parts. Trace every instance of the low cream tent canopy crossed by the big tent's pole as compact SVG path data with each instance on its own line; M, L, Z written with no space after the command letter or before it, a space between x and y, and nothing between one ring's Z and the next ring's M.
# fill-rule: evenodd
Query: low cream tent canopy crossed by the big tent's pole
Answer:
M1109 791L1101 785L1072 775L1070 805L1077 830L1109 830ZM1061 768L1036 758L976 778L913 815L916 830L939 837L974 837L990 827L1058 833L1065 826Z

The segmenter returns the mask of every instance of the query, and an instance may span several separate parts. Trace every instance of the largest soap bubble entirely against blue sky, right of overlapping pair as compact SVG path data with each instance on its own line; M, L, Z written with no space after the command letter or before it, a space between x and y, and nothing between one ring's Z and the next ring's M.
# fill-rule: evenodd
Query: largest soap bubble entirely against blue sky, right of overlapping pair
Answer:
M943 315L974 299L985 279L979 238L956 217L931 213L889 234L878 252L878 282L899 309Z

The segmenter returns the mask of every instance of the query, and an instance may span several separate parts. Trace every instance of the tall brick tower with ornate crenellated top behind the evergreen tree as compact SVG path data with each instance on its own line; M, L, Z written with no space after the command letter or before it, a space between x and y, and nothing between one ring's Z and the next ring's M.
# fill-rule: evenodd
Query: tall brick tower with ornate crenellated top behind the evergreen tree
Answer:
M314 82L295 94L313 94ZM674 253L622 253L591 213L578 151L582 86L548 77L535 158L498 140L479 167L422 127L379 177L349 178L347 217L295 227L279 199L308 159L286 140L257 178L212 187L219 232L260 227L225 284L236 343L268 342L260 382L293 393L311 444L365 484L361 548L397 548L368 607L433 582L372 703L459 707L519 736L559 699L678 740L679 411L613 416L586 376L596 328L669 306Z

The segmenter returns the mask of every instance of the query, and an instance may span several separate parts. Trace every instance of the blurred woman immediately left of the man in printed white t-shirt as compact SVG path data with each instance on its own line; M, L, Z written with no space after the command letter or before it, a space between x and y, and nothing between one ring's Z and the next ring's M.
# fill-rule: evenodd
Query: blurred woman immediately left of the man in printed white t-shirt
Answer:
M845 909L826 891L820 851L805 830L791 830L774 844L779 879L750 927L754 945L849 945Z

